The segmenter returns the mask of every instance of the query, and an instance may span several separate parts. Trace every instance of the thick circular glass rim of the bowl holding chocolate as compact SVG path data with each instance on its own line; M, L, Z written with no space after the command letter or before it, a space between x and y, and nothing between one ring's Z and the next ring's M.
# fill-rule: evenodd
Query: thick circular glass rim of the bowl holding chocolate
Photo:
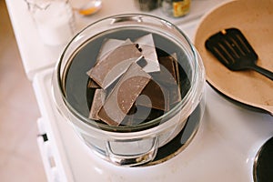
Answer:
M80 36L81 34L85 33L86 29L88 29L89 27L93 26L93 25L97 25L100 23L103 23L106 20L109 19L113 19L113 18L120 18L120 17L149 17L152 18L156 21L159 21L165 25L168 25L169 27L174 28L178 34L182 35L183 38L185 38L187 45L190 47L190 53L192 54L192 58L193 58L193 62L194 65L192 67L192 77L190 79L190 82L193 83L191 84L191 86L189 87L186 96L184 96L182 98L181 101L179 101L177 103L176 106L174 106L173 108L171 108L169 111L167 111L166 113L164 113L164 115L157 117L156 119L150 120L148 122L145 122L143 124L139 124L136 126L109 126L107 124L103 124L103 123L97 123L96 121L87 118L86 116L82 116L78 111L76 111L76 109L71 106L67 101L66 101L66 96L65 96L65 91L63 89L63 84L62 84L62 73L61 73L61 65L63 63L63 59L64 56L66 55L66 51L69 48L70 45L72 45L74 43L74 41L76 40L76 38L78 36ZM169 35L167 35L167 37L169 37ZM83 44L81 44L83 45ZM77 45L76 48L80 47L81 45ZM182 111L182 110L186 110L185 106L187 106L187 115L185 116L185 118L187 118L192 112L193 110L197 107L198 103L201 100L201 96L203 95L204 92L204 88L205 88L205 70L204 70L204 66L202 65L202 61L200 60L200 56L197 53L197 49L195 48L195 46L191 43L191 41L189 40L189 38L187 37L187 35L185 35L176 25L173 25L172 23L168 22L165 19L162 19L160 17L154 16L154 15L145 15L145 14L121 14L121 15L112 15L112 16L107 16L103 19L97 20L96 22L87 25L84 29L82 29L80 32L78 32L73 38L72 40L66 45L64 51L62 52L61 56L59 57L58 62L56 63L56 68L55 68L55 72L56 72L56 76L57 76L57 86L58 86L58 91L61 92L61 96L62 96L62 101L64 102L63 104L66 106L66 110L68 110L68 112L71 112L73 116L76 116L77 119L83 121L83 122L75 122L73 121L74 124L77 125L84 125L87 126L88 128L96 128L99 130L105 130L106 132L115 132L115 133L127 133L127 132L139 132L139 131L143 131L143 130L149 130L152 128L157 127L162 127L163 125L161 124L161 120L164 119L166 120L166 122L164 123L168 123L167 118L171 118L173 116L176 116L178 112ZM200 71L201 70L201 71ZM54 74L55 75L55 74ZM199 89L197 89L199 88ZM54 94L56 95L56 94ZM192 105L192 106L189 106ZM63 108L59 108L58 110L60 112L62 112ZM63 115L66 116L66 115ZM68 118L68 120L70 120ZM160 125L157 125L159 121ZM175 124L173 124L175 125ZM164 125L165 126L165 125ZM162 130L162 129L159 129Z

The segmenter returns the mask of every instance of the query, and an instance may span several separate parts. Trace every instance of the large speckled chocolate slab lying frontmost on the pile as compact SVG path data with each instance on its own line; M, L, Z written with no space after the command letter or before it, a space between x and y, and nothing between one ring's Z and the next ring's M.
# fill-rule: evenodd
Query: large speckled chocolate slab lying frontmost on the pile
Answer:
M132 63L107 96L105 105L98 112L98 117L110 126L119 126L150 78L151 76L140 66Z

